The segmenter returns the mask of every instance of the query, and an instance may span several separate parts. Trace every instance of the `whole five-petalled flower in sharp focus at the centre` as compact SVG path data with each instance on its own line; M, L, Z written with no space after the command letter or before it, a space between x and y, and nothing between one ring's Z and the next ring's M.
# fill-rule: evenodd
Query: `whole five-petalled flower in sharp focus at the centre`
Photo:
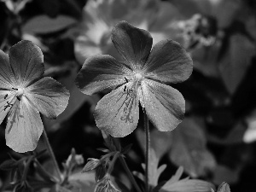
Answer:
M113 27L111 38L125 61L110 55L91 56L76 79L87 95L114 89L97 103L96 125L113 137L125 137L137 127L140 102L158 130L172 131L183 119L185 101L165 83L189 78L193 68L189 54L172 40L160 41L151 50L150 33L126 21Z

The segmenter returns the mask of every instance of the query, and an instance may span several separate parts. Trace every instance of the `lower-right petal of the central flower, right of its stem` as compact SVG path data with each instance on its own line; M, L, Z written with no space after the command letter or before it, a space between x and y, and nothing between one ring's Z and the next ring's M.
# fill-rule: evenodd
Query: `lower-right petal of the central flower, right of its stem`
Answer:
M148 119L159 131L172 131L184 118L185 100L178 90L143 79L142 94Z

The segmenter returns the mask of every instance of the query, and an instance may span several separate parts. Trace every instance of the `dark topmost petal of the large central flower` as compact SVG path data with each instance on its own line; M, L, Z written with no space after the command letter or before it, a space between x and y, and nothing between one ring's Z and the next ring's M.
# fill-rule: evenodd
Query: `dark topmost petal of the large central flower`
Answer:
M120 21L113 27L111 39L133 70L140 69L148 60L153 43L149 32Z

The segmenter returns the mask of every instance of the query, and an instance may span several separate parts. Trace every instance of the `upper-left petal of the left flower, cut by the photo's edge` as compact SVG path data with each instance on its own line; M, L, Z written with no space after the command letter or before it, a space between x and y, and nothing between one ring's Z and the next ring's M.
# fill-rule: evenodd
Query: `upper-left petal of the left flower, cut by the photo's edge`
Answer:
M15 75L9 65L9 56L0 50L0 91L10 90L15 84Z

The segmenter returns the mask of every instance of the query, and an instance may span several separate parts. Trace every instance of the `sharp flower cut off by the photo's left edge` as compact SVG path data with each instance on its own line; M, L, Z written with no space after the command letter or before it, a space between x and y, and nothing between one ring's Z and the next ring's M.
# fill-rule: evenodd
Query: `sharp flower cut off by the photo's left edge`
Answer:
M6 55L0 50L0 124L6 115L6 144L16 152L36 148L44 125L40 114L55 119L67 107L69 92L45 77L41 49L20 41Z

